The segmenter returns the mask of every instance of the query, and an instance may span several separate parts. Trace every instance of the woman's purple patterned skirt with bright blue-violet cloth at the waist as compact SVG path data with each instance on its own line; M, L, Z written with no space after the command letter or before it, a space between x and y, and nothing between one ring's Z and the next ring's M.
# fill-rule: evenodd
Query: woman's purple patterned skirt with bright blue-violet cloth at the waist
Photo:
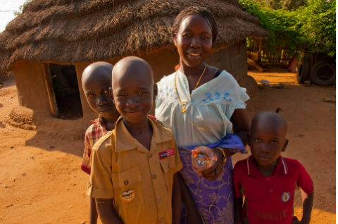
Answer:
M206 180L192 169L193 147L179 147L183 168L180 170L192 199L194 199L204 223L234 223L234 194L232 181L232 158L228 158L216 180ZM247 154L241 139L237 135L227 134L219 142L207 144L206 147L223 147L232 152ZM181 223L187 223L187 212L182 206Z

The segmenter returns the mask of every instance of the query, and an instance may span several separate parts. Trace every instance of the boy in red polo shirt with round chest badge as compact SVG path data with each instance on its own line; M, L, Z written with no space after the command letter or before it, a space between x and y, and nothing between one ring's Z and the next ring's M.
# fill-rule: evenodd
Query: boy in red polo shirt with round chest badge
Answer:
M287 122L277 113L265 111L253 118L252 155L234 166L235 223L310 223L313 182L299 161L280 156L289 142L286 134ZM294 190L299 187L303 199L300 221L293 213Z

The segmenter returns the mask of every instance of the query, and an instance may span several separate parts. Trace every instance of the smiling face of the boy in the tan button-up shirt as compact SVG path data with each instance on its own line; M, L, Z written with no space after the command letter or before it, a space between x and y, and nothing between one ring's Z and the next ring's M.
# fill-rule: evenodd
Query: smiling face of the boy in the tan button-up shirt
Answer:
M156 97L156 86L142 67L128 68L118 80L113 80L113 98L118 112L125 120L137 124L144 120Z

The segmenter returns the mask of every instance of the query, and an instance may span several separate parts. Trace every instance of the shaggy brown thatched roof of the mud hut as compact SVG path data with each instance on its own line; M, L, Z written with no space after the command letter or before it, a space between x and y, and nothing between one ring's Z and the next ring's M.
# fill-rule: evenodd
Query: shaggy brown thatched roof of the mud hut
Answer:
M193 5L215 15L215 51L269 35L237 0L33 0L0 34L0 69L22 60L77 63L172 49L175 16Z

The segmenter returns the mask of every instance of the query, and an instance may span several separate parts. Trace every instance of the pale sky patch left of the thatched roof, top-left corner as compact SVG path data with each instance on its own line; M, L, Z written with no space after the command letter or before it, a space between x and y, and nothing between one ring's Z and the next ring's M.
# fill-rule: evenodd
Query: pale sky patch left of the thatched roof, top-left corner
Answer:
M25 0L0 0L0 32L3 32L7 23L15 18L13 11L18 11L19 6L24 3Z

